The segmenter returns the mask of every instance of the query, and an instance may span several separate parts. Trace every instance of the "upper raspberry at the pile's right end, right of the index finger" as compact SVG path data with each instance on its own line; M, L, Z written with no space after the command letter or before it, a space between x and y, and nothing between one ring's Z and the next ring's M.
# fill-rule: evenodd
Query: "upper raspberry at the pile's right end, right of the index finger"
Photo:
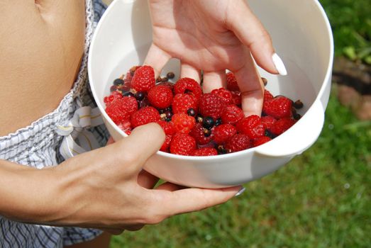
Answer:
M291 117L292 101L284 96L276 96L269 101L265 101L262 111L266 115L272 115L274 118Z

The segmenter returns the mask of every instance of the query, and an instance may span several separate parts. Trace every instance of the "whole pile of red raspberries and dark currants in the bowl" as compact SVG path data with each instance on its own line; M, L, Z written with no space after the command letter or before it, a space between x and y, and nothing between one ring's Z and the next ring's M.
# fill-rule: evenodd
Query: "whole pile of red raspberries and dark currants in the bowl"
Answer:
M186 156L212 156L246 150L281 135L301 118L301 101L272 96L265 89L262 117L245 117L236 77L226 74L227 89L203 94L189 78L173 84L167 77L155 79L149 66L132 67L115 79L104 97L106 113L128 135L133 128L158 123L165 132L163 152ZM266 79L263 79L265 84Z

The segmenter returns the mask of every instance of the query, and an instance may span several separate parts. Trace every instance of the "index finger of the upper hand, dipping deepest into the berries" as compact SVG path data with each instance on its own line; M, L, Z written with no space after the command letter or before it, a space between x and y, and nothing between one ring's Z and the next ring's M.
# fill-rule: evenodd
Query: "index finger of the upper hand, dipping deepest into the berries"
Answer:
M248 49L245 50L245 65L234 71L241 92L242 109L245 116L261 115L264 84Z

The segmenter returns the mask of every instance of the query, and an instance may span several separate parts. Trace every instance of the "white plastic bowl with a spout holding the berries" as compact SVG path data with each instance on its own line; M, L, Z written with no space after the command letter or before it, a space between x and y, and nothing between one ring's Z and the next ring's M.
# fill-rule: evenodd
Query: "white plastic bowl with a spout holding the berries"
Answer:
M251 0L250 8L270 33L287 67L287 76L267 74L267 89L294 101L303 117L274 140L249 150L214 157L157 152L145 164L151 174L184 186L221 188L259 179L301 154L319 137L331 89L333 37L326 13L316 0ZM241 25L243 25L241 23ZM104 122L114 140L125 137L104 111L113 79L143 63L152 40L146 0L115 0L99 22L89 50L89 79ZM164 72L178 72L171 60Z

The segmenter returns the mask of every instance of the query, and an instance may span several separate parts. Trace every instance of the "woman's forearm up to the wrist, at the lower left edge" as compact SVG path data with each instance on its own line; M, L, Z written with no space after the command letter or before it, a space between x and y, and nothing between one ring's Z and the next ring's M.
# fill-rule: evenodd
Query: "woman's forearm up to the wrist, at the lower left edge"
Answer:
M38 170L0 160L0 215L22 222L43 223L57 212L57 178L51 169Z

